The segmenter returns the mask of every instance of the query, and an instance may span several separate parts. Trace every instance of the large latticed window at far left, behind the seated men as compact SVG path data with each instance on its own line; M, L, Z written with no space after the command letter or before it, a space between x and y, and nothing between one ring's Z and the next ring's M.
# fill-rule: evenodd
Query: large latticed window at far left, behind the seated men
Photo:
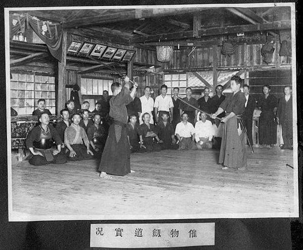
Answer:
M46 100L46 109L56 113L55 77L13 73L11 79L11 107L18 115L31 115L40 98Z

